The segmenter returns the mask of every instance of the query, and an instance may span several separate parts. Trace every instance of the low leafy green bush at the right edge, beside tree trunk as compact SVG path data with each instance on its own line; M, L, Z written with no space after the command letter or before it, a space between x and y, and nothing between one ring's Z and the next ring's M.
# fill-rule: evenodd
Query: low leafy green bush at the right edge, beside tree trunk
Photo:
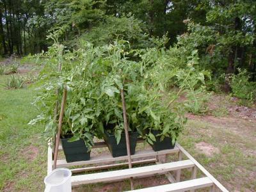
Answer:
M233 75L230 86L234 96L241 99L256 100L256 83L249 81L250 76L246 70L240 70L239 74Z

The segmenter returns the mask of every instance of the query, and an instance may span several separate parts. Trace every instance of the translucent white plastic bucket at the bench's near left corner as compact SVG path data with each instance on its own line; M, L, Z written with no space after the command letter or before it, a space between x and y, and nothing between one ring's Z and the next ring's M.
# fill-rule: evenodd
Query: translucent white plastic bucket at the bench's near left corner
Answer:
M71 171L67 168L57 168L44 179L45 192L71 192Z

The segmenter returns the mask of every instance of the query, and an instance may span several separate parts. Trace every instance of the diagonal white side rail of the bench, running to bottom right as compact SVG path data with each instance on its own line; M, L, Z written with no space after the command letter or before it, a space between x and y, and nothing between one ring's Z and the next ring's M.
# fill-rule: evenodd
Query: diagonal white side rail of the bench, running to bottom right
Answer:
M196 159L194 159L183 147L181 147L179 145L179 143L176 143L176 146L180 149L180 151L182 151L182 153L187 156L191 161L193 161L193 163L195 163L195 165L207 176L209 177L209 179L212 180L212 182L214 182L214 184L223 192L228 192L228 190L217 180L215 179L211 173L209 173L207 170L205 170L204 166L202 166L200 163L198 163L196 161Z

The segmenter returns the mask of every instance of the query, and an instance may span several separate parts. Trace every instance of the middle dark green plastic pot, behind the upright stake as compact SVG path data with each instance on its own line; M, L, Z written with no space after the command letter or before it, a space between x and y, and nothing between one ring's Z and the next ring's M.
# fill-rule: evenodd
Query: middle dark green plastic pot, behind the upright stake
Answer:
M138 138L138 132L129 132L131 155L135 153L137 138ZM127 156L125 133L121 134L121 139L118 145L116 143L115 135L109 134L108 131L105 131L104 139L113 157Z

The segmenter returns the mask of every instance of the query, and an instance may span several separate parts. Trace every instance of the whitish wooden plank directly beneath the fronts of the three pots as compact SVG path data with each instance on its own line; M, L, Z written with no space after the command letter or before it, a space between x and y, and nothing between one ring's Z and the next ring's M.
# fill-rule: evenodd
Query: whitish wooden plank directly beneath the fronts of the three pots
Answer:
M155 152L152 149L148 150L138 150L135 152L134 155L131 156L132 159L141 158L141 157L150 157L150 156L157 156L163 154L172 154L179 152L179 148L174 147L172 149L160 150ZM97 164L97 163L109 163L115 161L125 161L127 160L127 156L121 157L112 157L111 154L102 154L100 156L91 157L88 161L76 161L72 163L67 163L66 159L60 159L57 161L57 168L59 167L69 167L69 166L78 166L83 164Z

